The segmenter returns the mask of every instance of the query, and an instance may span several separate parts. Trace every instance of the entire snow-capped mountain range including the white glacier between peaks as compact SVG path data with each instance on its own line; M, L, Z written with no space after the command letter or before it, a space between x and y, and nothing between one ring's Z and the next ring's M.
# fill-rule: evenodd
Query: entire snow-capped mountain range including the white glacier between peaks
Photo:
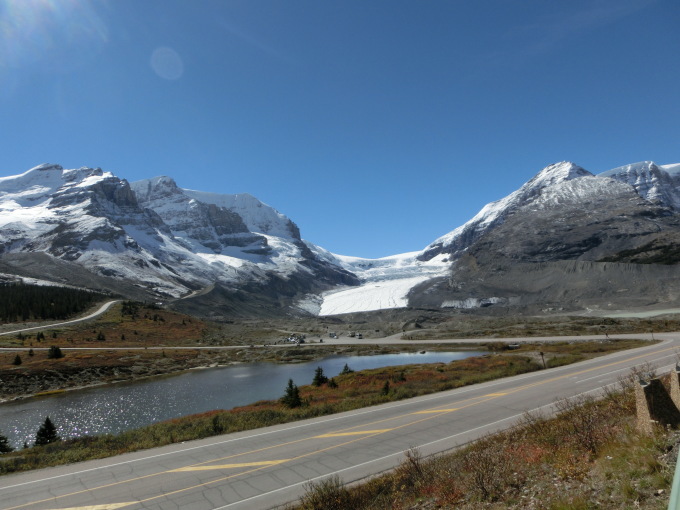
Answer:
M556 163L422 251L382 259L330 253L251 195L169 177L41 165L0 178L0 274L184 298L216 317L675 303L678 262L680 164Z

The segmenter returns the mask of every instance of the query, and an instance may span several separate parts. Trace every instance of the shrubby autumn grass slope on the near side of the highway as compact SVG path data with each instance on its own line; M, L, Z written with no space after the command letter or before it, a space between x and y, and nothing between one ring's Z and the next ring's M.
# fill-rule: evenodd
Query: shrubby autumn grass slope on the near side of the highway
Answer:
M513 429L449 454L423 459L408 451L394 471L360 485L346 487L337 476L309 484L287 508L666 508L680 435L636 431L632 380L599 401L559 402L553 418L527 414Z

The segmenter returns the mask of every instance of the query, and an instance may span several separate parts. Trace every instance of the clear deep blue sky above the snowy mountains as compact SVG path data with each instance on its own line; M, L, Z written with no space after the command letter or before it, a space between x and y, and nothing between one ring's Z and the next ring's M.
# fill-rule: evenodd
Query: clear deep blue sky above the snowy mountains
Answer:
M0 0L0 175L247 192L419 250L548 164L680 162L675 0Z

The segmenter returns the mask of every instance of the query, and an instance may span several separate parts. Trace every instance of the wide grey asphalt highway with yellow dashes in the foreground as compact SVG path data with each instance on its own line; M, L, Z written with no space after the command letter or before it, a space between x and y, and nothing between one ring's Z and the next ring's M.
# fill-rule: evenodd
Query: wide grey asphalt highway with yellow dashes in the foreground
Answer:
M2 509L260 509L297 499L310 481L356 481L404 452L446 451L512 426L525 411L614 384L630 368L674 366L663 342L541 372L324 418L0 478Z

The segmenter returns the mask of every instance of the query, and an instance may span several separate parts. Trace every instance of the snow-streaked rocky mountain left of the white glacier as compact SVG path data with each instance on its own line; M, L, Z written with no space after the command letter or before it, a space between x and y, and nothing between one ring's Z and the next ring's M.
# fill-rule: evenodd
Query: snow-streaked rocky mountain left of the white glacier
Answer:
M357 283L254 197L203 195L167 177L130 185L99 168L40 165L0 178L0 270L153 300L222 289L215 309L254 300L274 314L298 293Z

